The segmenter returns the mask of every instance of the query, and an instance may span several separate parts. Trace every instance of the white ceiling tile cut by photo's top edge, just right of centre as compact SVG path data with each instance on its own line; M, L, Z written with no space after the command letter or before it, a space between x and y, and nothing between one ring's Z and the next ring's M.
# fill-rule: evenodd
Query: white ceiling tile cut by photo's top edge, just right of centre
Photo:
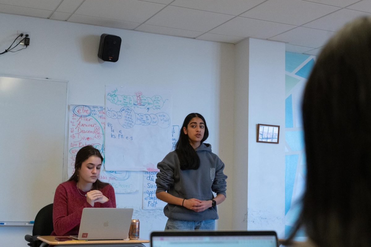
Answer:
M172 6L239 15L265 0L175 0Z

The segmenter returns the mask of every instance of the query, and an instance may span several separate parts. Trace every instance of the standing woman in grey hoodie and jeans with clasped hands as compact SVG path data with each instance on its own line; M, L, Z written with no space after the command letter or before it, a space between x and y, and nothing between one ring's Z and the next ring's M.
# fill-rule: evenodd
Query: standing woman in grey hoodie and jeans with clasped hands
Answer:
M158 199L167 202L165 230L214 230L216 205L226 199L224 163L203 143L209 136L201 114L184 119L175 151L158 163ZM214 198L213 192L217 195Z

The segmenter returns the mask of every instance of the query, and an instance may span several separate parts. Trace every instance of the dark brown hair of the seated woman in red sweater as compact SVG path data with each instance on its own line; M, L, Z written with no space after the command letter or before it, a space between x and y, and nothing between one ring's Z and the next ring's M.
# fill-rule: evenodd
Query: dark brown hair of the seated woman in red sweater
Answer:
M82 162L84 162L85 160L89 159L89 157L91 156L96 156L96 157L99 157L101 159L101 161L103 162L103 157L101 155L101 152L99 152L98 149L96 149L95 147L91 146L91 145L88 145L88 146L85 146L85 147L82 147L76 154L76 159L75 159L75 172L72 174L72 176L68 179L68 181L75 181L76 183L79 182L79 176L78 176L78 172L79 170L81 169L81 165L82 165ZM104 186L108 185L109 183L104 183L102 181L100 181L99 179L97 179L94 183L93 183L93 188L94 189L102 189L104 188Z

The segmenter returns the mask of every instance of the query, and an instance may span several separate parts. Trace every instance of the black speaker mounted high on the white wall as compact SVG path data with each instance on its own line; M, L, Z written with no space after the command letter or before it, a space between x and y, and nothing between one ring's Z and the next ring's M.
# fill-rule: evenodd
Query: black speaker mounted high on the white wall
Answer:
M102 34L99 43L98 58L103 61L117 62L120 53L121 38L116 35Z

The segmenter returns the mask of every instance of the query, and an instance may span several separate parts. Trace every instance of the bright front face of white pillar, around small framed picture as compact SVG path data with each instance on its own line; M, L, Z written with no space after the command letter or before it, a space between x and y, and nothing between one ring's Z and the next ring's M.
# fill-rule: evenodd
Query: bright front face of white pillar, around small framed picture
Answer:
M285 44L250 39L247 229L285 232ZM279 144L257 143L256 124L280 127Z

